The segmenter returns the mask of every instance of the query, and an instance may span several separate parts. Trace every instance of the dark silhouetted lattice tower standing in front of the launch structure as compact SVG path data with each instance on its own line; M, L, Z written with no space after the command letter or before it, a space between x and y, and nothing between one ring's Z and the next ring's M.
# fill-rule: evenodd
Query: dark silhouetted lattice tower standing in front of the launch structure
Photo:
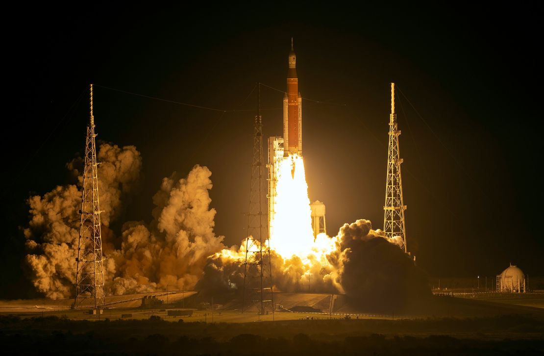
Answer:
M248 237L244 262L242 312L257 306L260 314L274 313L270 241L268 237L267 176L263 157L261 84L258 85L258 110L255 115L251 189L249 193Z

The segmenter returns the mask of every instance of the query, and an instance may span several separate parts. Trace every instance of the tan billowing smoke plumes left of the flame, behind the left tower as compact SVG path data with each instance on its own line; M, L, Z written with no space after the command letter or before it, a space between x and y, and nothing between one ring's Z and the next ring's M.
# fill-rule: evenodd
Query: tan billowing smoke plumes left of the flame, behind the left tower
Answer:
M186 178L164 178L154 195L153 220L123 224L120 236L109 229L122 216L138 188L141 157L134 146L101 144L97 154L98 191L106 292L121 294L192 288L206 258L224 248L213 232L215 210L209 208L211 171L195 165ZM67 167L82 185L83 162ZM76 185L30 197L30 220L23 229L28 255L25 266L36 290L49 298L69 298L75 281L81 190ZM120 246L115 249L114 246Z

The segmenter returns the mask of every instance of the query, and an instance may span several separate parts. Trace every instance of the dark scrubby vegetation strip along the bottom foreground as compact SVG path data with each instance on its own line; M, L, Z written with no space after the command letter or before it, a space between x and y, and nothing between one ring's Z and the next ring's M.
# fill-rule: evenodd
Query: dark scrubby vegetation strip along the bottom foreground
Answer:
M222 316L225 320L236 317L229 313ZM55 316L0 316L0 345L4 354L503 355L544 352L544 323L521 315L395 321L314 318L241 322L242 319L238 319L235 323L188 322L193 317L184 318L183 322L156 317L112 321L103 317L91 322ZM191 320L196 320L196 316Z

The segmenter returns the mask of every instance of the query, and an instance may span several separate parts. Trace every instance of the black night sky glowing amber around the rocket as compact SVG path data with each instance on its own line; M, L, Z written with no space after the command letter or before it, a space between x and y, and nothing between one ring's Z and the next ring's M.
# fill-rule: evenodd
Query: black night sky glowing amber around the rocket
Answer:
M84 148L89 83L97 139L135 145L143 156L145 179L122 222L149 222L161 179L206 165L215 232L238 244L257 101L256 91L248 95L256 82L285 90L291 36L299 90L324 102L303 100L303 149L310 200L325 202L329 235L359 218L382 228L395 82L404 94L397 114L407 245L417 264L434 277L492 276L509 262L544 275L541 10L284 4L13 10L18 27L4 45L0 297L32 295L18 226L29 194L70 182L65 164ZM279 136L283 94L261 90L264 136Z

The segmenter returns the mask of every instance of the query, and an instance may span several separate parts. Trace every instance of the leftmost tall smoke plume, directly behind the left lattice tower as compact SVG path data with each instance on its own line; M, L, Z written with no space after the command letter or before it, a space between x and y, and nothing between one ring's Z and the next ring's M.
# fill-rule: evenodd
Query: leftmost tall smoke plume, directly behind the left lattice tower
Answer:
M140 179L141 157L134 146L119 148L103 143L98 150L98 189L100 192L101 222L104 250L108 249L107 229L110 221L119 216L129 194L137 188ZM80 164L78 164L78 162ZM75 159L67 167L76 175L82 165ZM79 177L79 187L82 177ZM57 186L43 197L28 199L30 221L23 229L29 254L25 258L28 275L36 290L49 298L71 296L75 280L77 243L79 236L79 209L81 191L76 185Z

